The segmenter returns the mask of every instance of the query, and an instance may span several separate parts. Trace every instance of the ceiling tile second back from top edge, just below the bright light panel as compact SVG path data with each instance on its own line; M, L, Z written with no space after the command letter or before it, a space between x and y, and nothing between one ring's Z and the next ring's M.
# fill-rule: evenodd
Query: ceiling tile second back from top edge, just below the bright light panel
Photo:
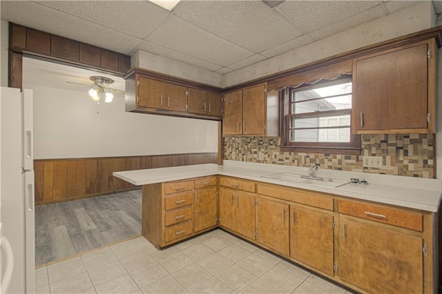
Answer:
M227 66L253 55L253 52L241 48L229 41L216 37L209 32L170 17L157 28L146 41L161 44L165 48L182 52L219 66Z

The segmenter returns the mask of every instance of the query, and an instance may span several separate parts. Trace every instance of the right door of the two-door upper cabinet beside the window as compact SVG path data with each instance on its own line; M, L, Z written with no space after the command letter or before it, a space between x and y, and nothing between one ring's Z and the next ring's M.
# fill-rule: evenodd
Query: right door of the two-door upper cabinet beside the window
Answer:
M266 124L265 84L242 90L242 133L265 135Z

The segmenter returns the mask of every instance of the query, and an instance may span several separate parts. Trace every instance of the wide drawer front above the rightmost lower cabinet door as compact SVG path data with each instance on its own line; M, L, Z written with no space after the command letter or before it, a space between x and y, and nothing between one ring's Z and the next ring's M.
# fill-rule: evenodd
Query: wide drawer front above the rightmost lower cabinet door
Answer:
M422 231L421 213L349 201L339 201L338 207L339 213Z

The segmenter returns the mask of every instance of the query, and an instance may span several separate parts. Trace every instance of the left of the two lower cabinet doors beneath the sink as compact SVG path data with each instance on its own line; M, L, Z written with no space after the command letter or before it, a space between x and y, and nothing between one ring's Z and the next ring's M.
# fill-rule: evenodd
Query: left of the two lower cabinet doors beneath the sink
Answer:
M261 197L256 199L256 240L278 253L289 255L289 206Z

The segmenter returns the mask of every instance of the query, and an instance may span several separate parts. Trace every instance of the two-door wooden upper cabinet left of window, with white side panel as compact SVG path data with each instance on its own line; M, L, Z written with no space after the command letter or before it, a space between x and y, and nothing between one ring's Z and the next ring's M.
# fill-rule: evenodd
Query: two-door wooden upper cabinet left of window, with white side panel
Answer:
M267 83L224 95L222 134L278 136L279 96L267 93Z

